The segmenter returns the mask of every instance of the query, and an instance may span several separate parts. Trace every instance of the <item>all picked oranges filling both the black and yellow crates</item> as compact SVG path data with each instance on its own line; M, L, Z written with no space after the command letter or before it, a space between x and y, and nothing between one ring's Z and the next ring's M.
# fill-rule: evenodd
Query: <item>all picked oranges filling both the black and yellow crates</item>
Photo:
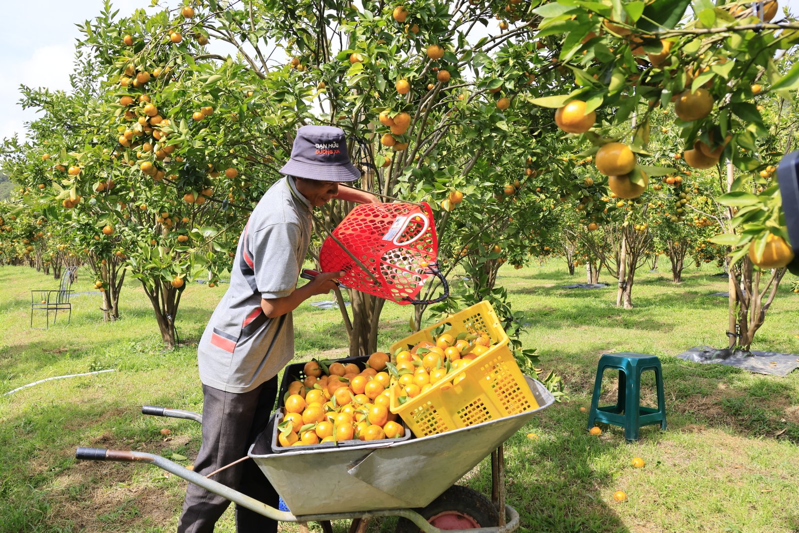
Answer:
M393 358L375 352L363 369L352 362L308 361L304 379L292 381L284 396L280 446L400 439L405 428L391 412L392 389L404 404L436 385L451 388L465 378L463 369L490 348L486 333L445 332Z

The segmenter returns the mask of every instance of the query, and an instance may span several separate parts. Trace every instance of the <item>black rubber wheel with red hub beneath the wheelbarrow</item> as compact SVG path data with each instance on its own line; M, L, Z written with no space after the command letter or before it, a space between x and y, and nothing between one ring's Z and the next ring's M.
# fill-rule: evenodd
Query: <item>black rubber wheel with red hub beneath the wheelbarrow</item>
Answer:
M499 526L499 513L491 499L460 485L452 485L430 505L414 511L439 529ZM401 518L397 521L396 533L419 533L419 527Z

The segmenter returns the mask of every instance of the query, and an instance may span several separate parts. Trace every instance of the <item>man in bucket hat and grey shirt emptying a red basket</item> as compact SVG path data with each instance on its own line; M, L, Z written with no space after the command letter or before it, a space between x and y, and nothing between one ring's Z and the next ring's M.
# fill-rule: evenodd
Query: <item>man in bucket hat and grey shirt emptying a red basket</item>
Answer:
M308 125L297 131L286 175L264 194L244 226L230 288L197 346L203 389L202 444L194 468L207 475L247 455L264 431L277 394L277 373L294 356L292 311L329 292L341 272L323 272L296 288L311 240L312 209L332 198L375 202L351 189L352 165L344 131ZM277 494L252 461L213 475L246 495L277 507ZM213 531L229 500L189 483L178 531ZM237 531L277 531L277 523L236 508Z

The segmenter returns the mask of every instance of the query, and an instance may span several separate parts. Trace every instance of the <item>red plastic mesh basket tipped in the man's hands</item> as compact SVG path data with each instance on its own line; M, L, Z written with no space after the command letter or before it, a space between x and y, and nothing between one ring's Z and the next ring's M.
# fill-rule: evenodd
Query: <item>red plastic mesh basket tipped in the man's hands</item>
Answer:
M430 205L363 204L344 217L320 253L324 272L343 271L344 286L405 304L415 298L433 274L427 265L435 263L438 241ZM347 253L368 268L362 268Z

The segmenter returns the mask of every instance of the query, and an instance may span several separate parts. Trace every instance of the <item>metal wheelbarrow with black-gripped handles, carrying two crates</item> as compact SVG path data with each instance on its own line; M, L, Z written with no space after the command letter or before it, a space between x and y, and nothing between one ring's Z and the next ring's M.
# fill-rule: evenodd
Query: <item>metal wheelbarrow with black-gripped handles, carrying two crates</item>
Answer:
M272 428L267 428L252 444L248 456L264 472L289 511L270 507L160 455L79 447L75 457L152 463L271 519L300 524L319 522L325 531L329 531L330 520L352 519L350 531L362 533L367 519L397 516L398 533L508 533L519 527L519 513L504 501L502 445L555 401L539 381L529 376L526 380L539 408L418 439L379 446L318 450L297 447L296 451L274 453L270 446ZM202 422L201 415L178 409L145 406L142 412ZM489 453L493 501L477 491L453 485ZM316 474L312 498L292 490L297 475L311 472ZM347 491L346 499L337 497L342 488Z

